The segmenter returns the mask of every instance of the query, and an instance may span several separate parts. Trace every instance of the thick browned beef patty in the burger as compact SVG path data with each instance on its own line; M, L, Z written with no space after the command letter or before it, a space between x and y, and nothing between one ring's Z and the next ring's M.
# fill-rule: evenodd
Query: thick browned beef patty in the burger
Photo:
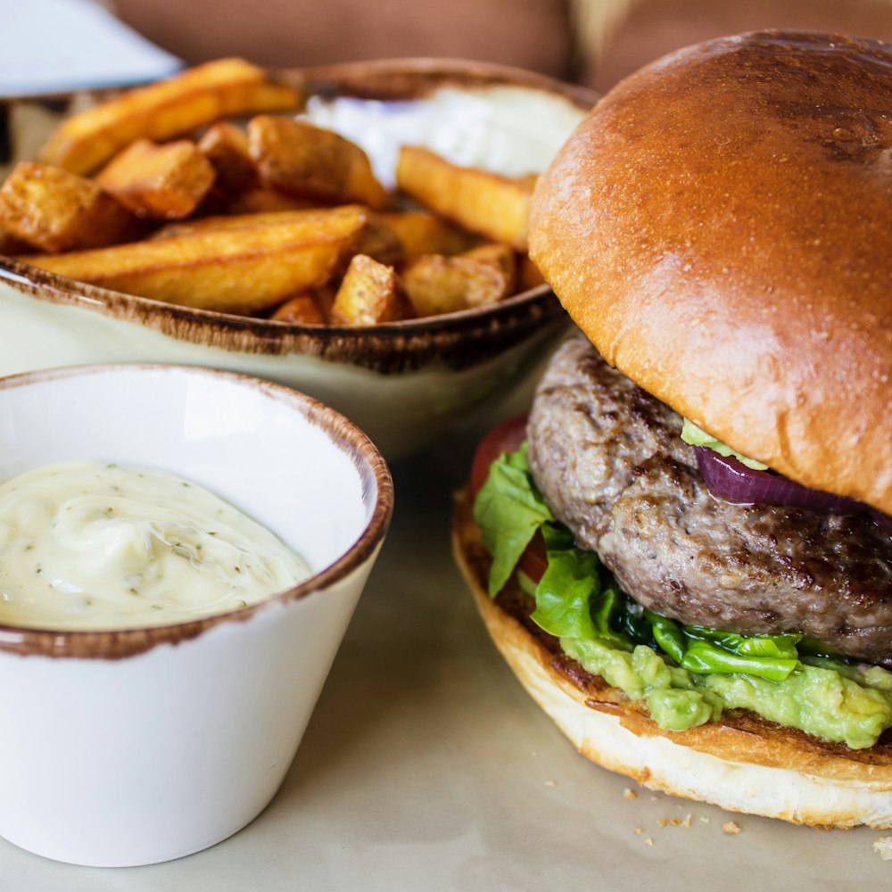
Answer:
M552 359L527 433L554 515L644 607L730 632L802 632L892 666L892 537L870 516L715 497L681 416L582 338Z

